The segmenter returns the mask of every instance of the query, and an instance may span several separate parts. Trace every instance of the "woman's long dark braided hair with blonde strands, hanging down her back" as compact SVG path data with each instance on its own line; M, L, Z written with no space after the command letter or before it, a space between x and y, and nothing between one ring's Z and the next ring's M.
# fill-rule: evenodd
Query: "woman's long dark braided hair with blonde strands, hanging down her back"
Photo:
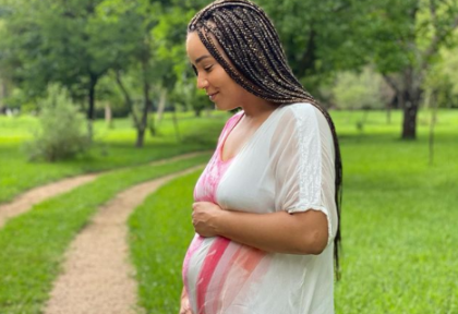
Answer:
M278 34L266 13L248 0L217 0L195 14L188 33L197 32L200 39L228 75L248 92L280 105L309 102L326 118L334 138L338 228L334 239L337 279L340 251L340 207L342 164L339 142L329 113L322 108L298 81L288 65ZM212 36L213 35L213 36ZM221 47L228 62L219 52Z

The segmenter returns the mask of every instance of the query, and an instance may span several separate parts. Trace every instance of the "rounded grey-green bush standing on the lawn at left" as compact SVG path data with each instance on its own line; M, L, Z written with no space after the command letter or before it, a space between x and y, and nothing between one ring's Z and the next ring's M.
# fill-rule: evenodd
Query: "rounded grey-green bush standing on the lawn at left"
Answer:
M34 140L25 144L31 160L52 162L88 149L85 120L64 89L50 86L47 98L39 101L39 128Z

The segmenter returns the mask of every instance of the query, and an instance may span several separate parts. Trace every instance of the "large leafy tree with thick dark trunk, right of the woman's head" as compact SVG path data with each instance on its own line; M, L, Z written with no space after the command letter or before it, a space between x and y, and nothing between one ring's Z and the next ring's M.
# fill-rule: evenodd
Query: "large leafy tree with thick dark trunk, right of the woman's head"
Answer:
M260 0L260 4L274 20L293 72L312 94L320 96L318 87L336 71L373 63L400 100L402 138L415 138L424 77L441 47L454 44L458 1Z

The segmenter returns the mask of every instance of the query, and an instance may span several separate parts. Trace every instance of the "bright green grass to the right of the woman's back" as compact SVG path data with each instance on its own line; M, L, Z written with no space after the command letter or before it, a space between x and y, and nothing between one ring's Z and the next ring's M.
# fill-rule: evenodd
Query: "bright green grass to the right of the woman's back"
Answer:
M375 123L342 137L338 313L458 313L457 113L439 114L432 166L425 123L414 142Z

